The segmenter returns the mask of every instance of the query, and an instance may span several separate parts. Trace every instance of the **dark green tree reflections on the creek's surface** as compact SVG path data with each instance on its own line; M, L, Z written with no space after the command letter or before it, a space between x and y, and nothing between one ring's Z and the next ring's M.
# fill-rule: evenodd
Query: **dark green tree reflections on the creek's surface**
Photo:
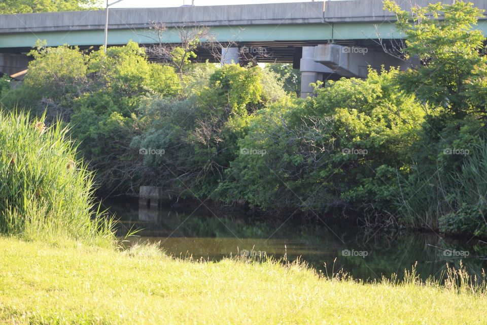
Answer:
M191 210L191 209L190 209ZM138 217L138 206L125 205L119 208L119 215L125 215L126 220L131 220L126 226L139 225L147 228L140 233L141 236L168 236L177 230L171 237L207 238L209 241L215 238L208 247L218 249L223 241L235 239L256 239L265 241L271 235L271 240L276 240L284 252L284 243L287 243L288 260L298 258L301 251L302 261L318 270L324 270L324 264L330 272L334 265L335 272L343 268L354 278L374 279L382 275L390 277L398 274L404 275L404 269L410 270L418 262L416 271L423 279L429 275L437 279L446 272L446 263L450 267L460 268L460 261L469 274L481 278L482 267L487 266L485 260L480 259L487 255L487 244L472 241L468 244L459 240L442 239L435 234L411 234L401 232L368 233L356 228L333 229L333 233L324 224L302 223L301 220L289 220L282 225L282 221L251 221L245 218L217 218L211 213L196 211L191 214L178 213L176 211L156 211L159 213L157 224L141 224ZM190 215L191 214L191 215ZM183 222L184 221L184 222ZM331 222L330 222L331 223ZM282 226L281 226L282 225ZM281 226L281 227L280 227ZM280 227L280 228L279 228ZM276 229L279 230L275 232ZM274 233L275 232L275 233ZM235 241L238 241L235 239ZM274 244L275 245L275 244ZM296 248L293 249L292 245ZM243 247L251 249L252 247ZM197 249L195 247L194 249ZM365 250L369 252L365 258L358 256L341 256L343 249ZM444 250L469 251L467 258L445 256ZM284 254L284 253L283 253ZM223 257L222 254L215 258ZM274 256L282 257L282 256ZM336 258L336 262L334 262Z

